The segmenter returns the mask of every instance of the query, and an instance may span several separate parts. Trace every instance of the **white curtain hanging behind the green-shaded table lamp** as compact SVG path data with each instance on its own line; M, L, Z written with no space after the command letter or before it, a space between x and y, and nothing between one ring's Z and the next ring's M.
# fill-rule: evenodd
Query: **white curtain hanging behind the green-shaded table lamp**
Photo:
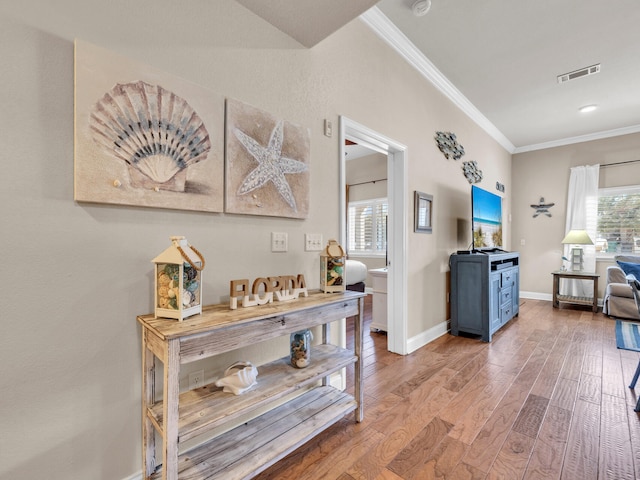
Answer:
M567 197L567 223L565 235L570 230L586 230L595 242L598 228L598 177L600 165L573 167L569 177L569 194ZM584 271L596 271L595 245L583 245ZM563 254L570 258L571 245L564 245ZM587 280L564 281L561 293L576 297L594 295L593 282ZM598 292L595 292L597 295Z

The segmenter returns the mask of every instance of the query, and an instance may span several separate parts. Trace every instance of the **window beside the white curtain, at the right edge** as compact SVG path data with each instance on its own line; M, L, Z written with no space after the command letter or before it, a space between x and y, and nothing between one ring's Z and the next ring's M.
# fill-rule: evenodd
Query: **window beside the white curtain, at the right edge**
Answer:
M640 185L598 190L598 255L640 254Z

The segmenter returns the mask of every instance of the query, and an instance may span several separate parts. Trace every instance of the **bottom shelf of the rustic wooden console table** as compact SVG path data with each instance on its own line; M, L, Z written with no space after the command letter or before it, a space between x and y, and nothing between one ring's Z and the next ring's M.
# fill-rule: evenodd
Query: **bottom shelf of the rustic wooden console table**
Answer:
M357 406L351 395L333 387L313 388L213 441L181 454L178 475L185 480L251 478L353 412ZM150 478L162 478L162 469Z

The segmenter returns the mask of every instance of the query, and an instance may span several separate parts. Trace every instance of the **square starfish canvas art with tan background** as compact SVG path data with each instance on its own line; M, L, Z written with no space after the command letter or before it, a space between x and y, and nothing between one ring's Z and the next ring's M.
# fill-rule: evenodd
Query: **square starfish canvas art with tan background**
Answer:
M227 100L227 213L306 218L309 129Z

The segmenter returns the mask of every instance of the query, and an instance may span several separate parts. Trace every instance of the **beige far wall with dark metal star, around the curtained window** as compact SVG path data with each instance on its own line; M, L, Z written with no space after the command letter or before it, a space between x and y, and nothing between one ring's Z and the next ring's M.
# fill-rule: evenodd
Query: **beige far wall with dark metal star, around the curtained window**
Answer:
M571 167L605 165L640 159L640 134L593 140L513 156L513 248L520 251L520 290L534 296L552 293L551 272L561 266L565 235L567 188ZM600 169L600 187L637 185L640 163ZM554 202L552 217L533 218L531 204L540 197ZM525 245L521 245L521 240ZM602 298L606 268L611 261L598 261L599 297ZM526 293L528 294L528 293Z

